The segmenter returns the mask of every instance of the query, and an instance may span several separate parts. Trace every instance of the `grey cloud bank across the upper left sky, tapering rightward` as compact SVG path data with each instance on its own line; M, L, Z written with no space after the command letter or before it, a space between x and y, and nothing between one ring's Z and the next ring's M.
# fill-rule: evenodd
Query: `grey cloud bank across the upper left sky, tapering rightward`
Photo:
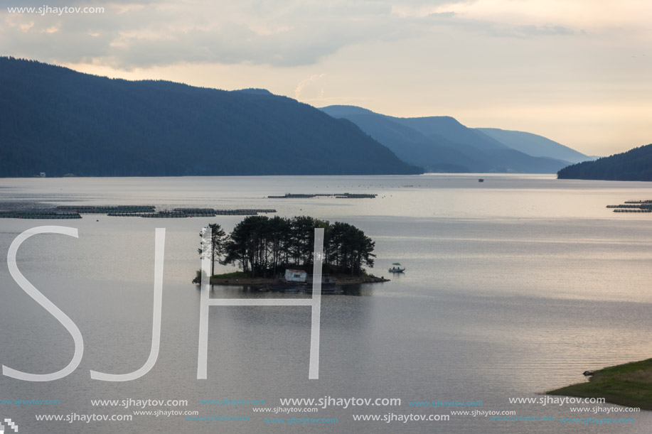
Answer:
M43 6L43 1L29 0L32 3ZM314 65L343 48L414 38L439 26L471 31L483 28L493 36L522 38L572 33L558 26L496 29L481 21L464 20L451 12L437 12L447 5L472 3L464 0L117 0L111 3L57 0L50 1L50 6L102 4L105 12L41 16L12 14L5 8L0 10L0 23L5 24L0 26L0 40L10 55L132 70L178 63ZM47 33L48 29L57 31Z

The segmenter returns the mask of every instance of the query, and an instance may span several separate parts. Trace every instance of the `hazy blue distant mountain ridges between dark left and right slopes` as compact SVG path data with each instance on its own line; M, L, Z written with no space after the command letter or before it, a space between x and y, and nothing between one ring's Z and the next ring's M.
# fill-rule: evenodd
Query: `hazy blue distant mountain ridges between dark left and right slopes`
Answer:
M569 155L576 156L576 151L534 134L528 139L534 141L531 136L540 138L537 141L544 149L540 150L541 155L530 155L509 146L516 141L511 133L520 131L505 131L505 136L511 139L505 143L496 137L496 131L486 134L483 129L468 128L450 116L397 118L362 107L341 105L321 109L331 116L351 120L402 160L412 164L418 162L433 172L555 173L570 161L552 157L552 148L560 146L569 150Z

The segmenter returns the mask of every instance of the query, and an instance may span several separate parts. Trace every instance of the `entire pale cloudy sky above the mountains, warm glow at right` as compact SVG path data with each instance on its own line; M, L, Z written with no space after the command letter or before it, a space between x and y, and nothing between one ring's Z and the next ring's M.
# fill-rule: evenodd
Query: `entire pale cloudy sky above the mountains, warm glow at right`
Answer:
M590 155L652 143L651 0L0 0L0 54L454 116ZM103 13L9 8L104 7Z

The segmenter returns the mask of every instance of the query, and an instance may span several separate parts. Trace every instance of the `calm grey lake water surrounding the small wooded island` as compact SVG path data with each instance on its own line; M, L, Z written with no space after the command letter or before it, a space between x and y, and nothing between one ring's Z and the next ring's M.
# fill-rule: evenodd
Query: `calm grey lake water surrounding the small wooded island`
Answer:
M478 178L484 178L479 183ZM286 192L370 192L375 199L267 199ZM79 238L43 234L18 251L21 272L78 325L84 357L58 381L0 376L0 416L24 433L649 433L649 412L572 413L569 404L513 404L585 381L582 371L652 354L652 224L649 214L606 205L652 199L648 183L555 180L551 175L415 175L238 178L0 179L0 202L47 205L147 204L159 208L274 208L363 229L376 243L373 273L387 283L356 295L324 295L319 380L308 379L310 308L213 307L208 379L196 379L200 290L199 231L242 217L144 219L84 215L77 220L0 220L0 251L26 229L78 228ZM90 370L126 374L149 355L154 231L166 228L161 349L134 381L90 379ZM393 262L407 267L389 276ZM218 267L217 272L235 268ZM65 328L0 265L0 362L35 374L73 355ZM213 287L213 298L306 295ZM259 413L280 398L401 398L400 406L330 406L316 413ZM93 406L96 399L187 400L146 411L198 411L249 421L44 422L36 416L134 415L142 408ZM264 400L264 405L202 404ZM475 408L409 406L408 401L482 401ZM582 405L584 406L584 405ZM587 405L588 406L588 405ZM591 405L592 407L594 405ZM288 407L305 407L303 405ZM614 407L609 405L599 406ZM451 415L515 411L556 421L354 421L353 415ZM579 416L578 416L579 415ZM264 418L337 418L337 423L264 423ZM560 418L635 418L630 424L561 423ZM11 431L5 431L11 432Z

